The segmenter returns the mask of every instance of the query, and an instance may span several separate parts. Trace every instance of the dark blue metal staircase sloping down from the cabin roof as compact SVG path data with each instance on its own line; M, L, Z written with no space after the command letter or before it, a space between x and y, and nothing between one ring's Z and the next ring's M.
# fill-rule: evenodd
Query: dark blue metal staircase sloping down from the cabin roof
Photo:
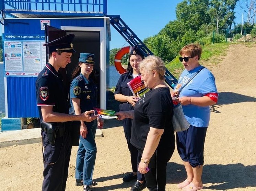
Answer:
M107 15L109 17L110 24L120 33L122 37L131 45L137 45L144 56L153 55L148 47L137 37L137 35L128 27L128 25L120 18L120 15ZM177 79L171 74L171 72L165 69L165 82L172 87L172 84L176 84Z

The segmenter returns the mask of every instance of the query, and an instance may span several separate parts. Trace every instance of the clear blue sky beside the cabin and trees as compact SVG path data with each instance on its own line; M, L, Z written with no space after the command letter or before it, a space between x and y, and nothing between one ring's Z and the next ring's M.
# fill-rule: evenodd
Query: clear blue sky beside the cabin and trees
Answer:
M167 23L176 19L176 5L182 0L108 0L107 14L120 15L140 40L156 35ZM236 23L242 11L237 3ZM245 14L245 13L244 13ZM111 26L110 49L122 47L125 39ZM124 46L128 46L126 43Z

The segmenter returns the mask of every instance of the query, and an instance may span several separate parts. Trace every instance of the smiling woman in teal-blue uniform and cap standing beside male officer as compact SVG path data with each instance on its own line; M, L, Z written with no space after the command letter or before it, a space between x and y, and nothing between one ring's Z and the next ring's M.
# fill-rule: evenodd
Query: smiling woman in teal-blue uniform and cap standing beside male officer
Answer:
M72 77L74 78L70 85L71 106L75 114L80 114L90 108L93 110L97 105L97 87L89 75L93 71L95 63L94 55L80 53L79 63L74 69ZM81 121L80 141L77 151L77 162L75 168L76 186L84 185L84 191L91 191L90 186L97 185L92 180L93 169L96 159L95 133L98 126L103 127L101 118L92 122Z

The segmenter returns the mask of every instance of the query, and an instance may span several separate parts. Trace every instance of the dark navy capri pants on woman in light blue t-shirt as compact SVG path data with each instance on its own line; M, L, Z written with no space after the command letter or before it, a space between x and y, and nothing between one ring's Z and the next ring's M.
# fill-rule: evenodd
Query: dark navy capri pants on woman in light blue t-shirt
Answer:
M192 167L203 165L206 131L207 127L190 125L186 131L176 133L179 156Z

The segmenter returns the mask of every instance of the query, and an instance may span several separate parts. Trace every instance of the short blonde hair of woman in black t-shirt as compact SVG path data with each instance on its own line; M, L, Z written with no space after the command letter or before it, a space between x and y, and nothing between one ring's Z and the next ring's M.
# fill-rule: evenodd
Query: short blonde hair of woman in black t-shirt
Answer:
M165 80L165 66L163 60L158 56L147 56L144 58L140 65L140 70L152 71L155 70L159 74L160 80Z

